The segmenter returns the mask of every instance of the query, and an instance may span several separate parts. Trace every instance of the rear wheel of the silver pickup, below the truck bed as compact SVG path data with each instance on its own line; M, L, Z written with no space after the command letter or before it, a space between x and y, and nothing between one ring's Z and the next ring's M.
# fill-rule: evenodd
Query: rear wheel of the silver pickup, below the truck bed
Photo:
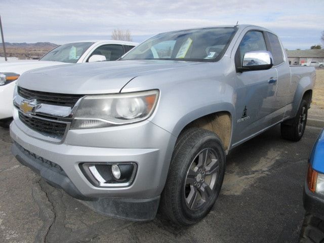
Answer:
M307 123L308 103L302 100L297 115L284 123L281 123L281 137L291 141L299 141L304 134Z

